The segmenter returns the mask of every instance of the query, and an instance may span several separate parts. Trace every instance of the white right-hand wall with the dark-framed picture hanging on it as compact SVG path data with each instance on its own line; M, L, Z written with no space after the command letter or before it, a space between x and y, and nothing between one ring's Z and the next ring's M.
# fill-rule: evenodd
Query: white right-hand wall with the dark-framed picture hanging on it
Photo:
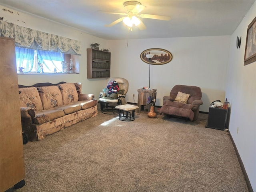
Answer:
M226 97L230 100L229 130L256 191L256 62L244 66L247 28L256 17L256 2L231 36ZM241 37L240 49L236 37ZM237 129L238 133L237 133Z

